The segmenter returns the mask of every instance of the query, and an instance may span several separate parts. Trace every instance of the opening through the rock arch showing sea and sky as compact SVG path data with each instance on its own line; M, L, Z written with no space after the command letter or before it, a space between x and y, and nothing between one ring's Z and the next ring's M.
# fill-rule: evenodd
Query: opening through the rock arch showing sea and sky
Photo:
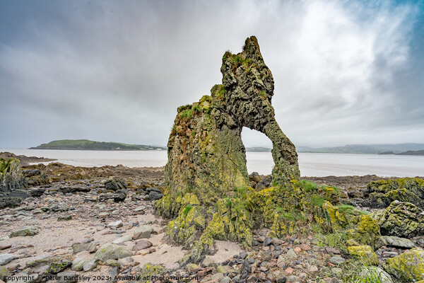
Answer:
M243 127L242 141L246 148L247 173L271 175L275 164L271 154L272 142L266 134Z

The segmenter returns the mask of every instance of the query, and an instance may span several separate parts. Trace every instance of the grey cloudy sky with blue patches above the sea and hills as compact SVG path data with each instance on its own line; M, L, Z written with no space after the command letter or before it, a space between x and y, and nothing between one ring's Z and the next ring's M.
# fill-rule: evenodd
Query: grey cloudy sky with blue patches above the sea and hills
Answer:
M424 142L423 1L0 0L0 148L165 145L250 35L295 145Z

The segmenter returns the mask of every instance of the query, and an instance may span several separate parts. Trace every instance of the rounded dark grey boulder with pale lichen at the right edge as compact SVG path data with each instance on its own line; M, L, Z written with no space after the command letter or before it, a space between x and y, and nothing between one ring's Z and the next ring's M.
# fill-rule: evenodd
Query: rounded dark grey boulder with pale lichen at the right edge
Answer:
M424 212L409 202L391 202L387 209L371 214L384 236L412 238L424 235Z

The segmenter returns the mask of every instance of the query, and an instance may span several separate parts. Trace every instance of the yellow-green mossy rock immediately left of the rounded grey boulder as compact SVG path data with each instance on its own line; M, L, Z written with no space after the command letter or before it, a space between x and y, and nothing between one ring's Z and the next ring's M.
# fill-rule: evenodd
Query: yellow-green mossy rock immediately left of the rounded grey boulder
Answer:
M384 245L380 234L380 227L368 215L353 217L353 228L346 231L346 238L358 241L363 245L368 245L377 250Z

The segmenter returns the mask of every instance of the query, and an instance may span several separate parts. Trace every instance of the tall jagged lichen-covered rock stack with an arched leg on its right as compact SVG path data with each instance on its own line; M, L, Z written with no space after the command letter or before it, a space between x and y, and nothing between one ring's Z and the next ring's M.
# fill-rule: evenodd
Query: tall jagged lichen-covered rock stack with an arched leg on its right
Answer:
M177 110L167 144L167 189L155 204L158 214L177 217L168 226L170 238L188 247L199 240L188 259L194 262L199 262L212 238L228 238L247 246L252 241L254 221L242 197L252 190L242 127L271 139L274 185L289 186L300 178L295 146L275 119L273 76L257 38L248 37L239 54L225 52L220 71L222 84L213 86L211 96Z

